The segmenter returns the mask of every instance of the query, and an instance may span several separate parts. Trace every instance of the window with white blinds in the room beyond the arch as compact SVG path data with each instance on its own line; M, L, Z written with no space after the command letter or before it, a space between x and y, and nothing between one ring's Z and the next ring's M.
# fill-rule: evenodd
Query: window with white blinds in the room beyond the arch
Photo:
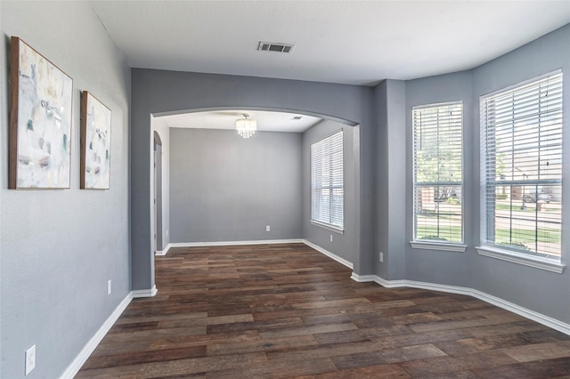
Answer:
M343 132L311 145L312 221L343 230Z

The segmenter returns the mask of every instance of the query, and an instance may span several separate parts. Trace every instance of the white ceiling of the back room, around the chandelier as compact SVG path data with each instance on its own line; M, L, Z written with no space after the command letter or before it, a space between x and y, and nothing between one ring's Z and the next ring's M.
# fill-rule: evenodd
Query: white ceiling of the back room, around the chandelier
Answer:
M256 120L257 130L262 132L303 133L315 125L321 118L299 115L295 113L271 112L265 110L219 110L212 112L196 112L183 115L161 117L169 127L185 127L199 129L235 129L235 122L243 115ZM300 116L301 119L293 119Z

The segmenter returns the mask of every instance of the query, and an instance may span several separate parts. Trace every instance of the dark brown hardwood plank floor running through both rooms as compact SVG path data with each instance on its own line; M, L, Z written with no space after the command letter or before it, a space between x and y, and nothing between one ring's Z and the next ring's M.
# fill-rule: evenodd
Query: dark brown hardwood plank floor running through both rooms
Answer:
M77 378L570 377L568 335L350 275L302 244L171 249Z

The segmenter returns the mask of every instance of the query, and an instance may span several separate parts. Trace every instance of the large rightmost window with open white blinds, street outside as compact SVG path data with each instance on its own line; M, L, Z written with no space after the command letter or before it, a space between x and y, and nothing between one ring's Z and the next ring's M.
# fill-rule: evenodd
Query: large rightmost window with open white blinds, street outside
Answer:
M562 73L484 96L480 106L483 245L559 260Z

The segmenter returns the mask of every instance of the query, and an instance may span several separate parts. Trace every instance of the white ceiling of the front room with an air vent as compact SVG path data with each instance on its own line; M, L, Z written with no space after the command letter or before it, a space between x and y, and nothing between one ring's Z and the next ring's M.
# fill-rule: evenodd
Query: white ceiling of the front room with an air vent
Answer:
M472 69L570 23L570 0L90 4L132 68L348 85ZM295 47L259 52L260 41Z

